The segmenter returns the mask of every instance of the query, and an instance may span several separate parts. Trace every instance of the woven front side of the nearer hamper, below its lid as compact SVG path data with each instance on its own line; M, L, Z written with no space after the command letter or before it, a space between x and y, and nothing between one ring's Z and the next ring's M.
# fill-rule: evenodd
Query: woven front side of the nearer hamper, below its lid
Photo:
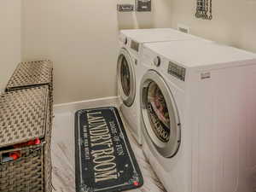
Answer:
M0 191L48 192L44 190L44 143L3 150L0 157L14 151L20 151L18 160L0 164Z

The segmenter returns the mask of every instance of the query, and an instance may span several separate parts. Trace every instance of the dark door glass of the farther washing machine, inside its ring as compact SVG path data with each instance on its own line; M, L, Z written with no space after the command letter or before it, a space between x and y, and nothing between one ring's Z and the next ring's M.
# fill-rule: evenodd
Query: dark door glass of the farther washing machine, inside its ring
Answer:
M128 62L126 61L125 56L123 56L123 59L121 61L120 73L121 73L120 74L121 84L125 92L125 96L129 96L130 90L131 90L131 76L130 76Z

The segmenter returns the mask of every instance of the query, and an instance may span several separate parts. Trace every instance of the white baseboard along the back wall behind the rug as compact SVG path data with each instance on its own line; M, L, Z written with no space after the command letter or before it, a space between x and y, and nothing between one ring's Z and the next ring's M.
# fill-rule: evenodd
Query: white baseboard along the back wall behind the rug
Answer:
M80 102L67 102L54 105L54 113L65 113L65 112L75 112L84 108L98 108L98 107L119 107L119 97L110 96L97 99L91 99Z

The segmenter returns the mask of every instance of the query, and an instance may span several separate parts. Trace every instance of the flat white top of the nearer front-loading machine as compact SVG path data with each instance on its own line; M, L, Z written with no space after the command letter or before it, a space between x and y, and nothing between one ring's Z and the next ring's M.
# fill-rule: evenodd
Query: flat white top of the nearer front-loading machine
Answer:
M184 67L224 67L242 61L256 64L256 54L213 42L172 41L144 44L144 47Z

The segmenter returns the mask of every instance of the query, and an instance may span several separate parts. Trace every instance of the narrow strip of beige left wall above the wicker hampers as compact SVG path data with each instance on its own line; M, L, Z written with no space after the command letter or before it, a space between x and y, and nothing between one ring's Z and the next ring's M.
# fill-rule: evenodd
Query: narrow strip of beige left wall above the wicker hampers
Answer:
M0 90L3 90L20 62L20 1L0 4Z

